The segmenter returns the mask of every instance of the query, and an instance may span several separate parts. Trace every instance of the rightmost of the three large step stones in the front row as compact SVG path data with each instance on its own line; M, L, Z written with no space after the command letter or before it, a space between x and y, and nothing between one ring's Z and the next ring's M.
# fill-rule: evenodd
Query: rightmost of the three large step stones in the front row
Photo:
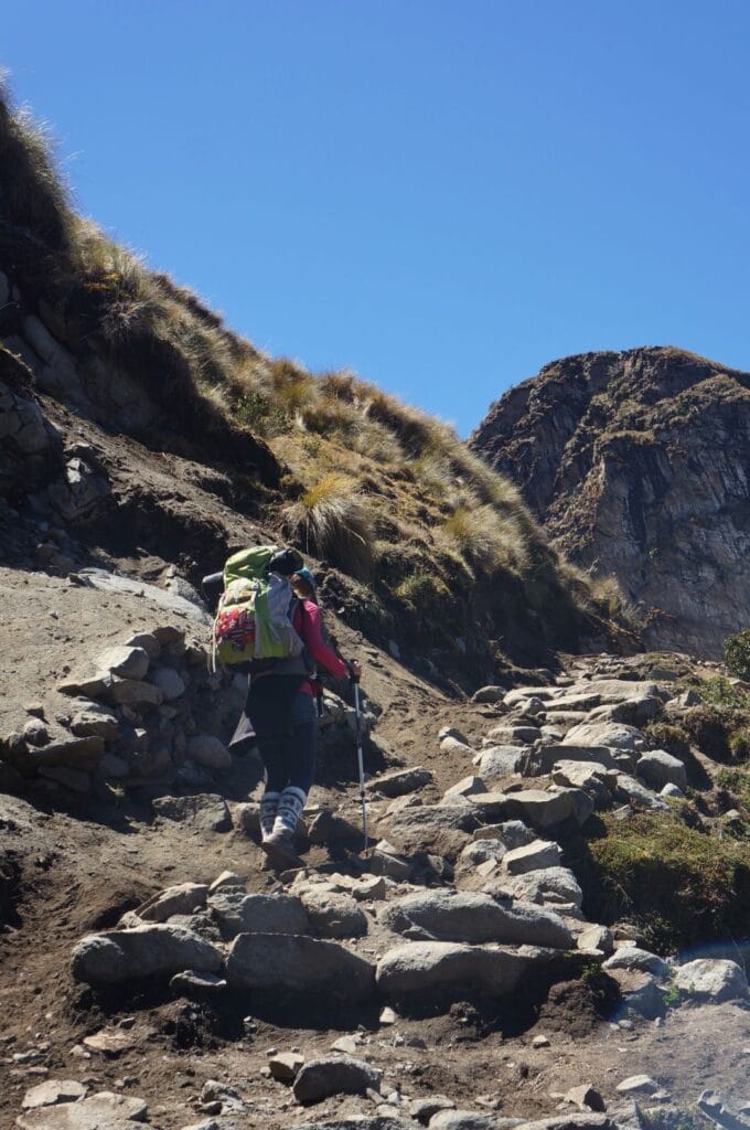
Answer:
M412 941L389 949L377 963L377 988L391 998L448 990L456 998L466 991L502 997L512 992L543 951L512 950L496 946L466 946L451 941Z

